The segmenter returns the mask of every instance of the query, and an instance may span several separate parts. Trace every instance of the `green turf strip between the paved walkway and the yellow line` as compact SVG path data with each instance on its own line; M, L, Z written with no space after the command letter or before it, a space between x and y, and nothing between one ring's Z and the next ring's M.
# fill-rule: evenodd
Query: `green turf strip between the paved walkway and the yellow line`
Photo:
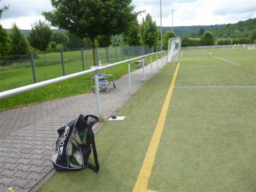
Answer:
M117 115L126 116L123 122L106 122L98 131L98 173L89 169L57 172L39 191L51 191L56 186L59 191L133 190L175 67L167 65L118 111Z

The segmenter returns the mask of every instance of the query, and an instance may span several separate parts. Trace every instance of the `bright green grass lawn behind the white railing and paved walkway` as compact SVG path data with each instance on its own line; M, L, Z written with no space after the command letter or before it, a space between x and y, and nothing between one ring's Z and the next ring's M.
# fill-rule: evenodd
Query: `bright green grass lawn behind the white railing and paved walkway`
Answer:
M91 51L91 50L90 50ZM85 52L84 56L86 56ZM67 54L64 52L63 54ZM81 54L80 52L74 51L69 55L69 62L65 63L66 74L72 74L76 72L83 71L81 61L71 61L76 55ZM158 57L160 58L160 54ZM46 56L46 60L51 60L51 65L43 65L44 56L35 61L35 72L37 74L37 82L54 79L56 77L63 76L62 64L58 63L56 59L56 54L51 56ZM100 57L99 57L100 58ZM120 58L121 59L121 58ZM150 56L145 57L147 63L150 63ZM156 60L156 55L152 55L152 62ZM60 62L60 61L59 61ZM113 61L115 62L115 61ZM103 63L103 62L102 62ZM86 61L85 69L90 69L93 65L93 61ZM131 72L136 70L136 67L131 62ZM119 79L123 74L128 73L127 63L113 67L115 79ZM10 87L17 88L21 86L26 86L28 84L33 84L33 76L31 76L31 67L25 65L22 67L8 67L4 70L0 70L0 91L9 90ZM103 72L103 71L102 71ZM107 74L112 74L112 69L106 69ZM93 76L93 74L92 74ZM112 77L108 79L112 80ZM9 98L1 99L0 102L0 112L6 109L12 109L17 106L35 104L38 102L50 101L53 99L70 97L73 95L79 95L84 93L89 93L91 91L91 76L87 74L85 76L76 77L74 79L62 81L60 83L52 84L47 87L38 88L37 90L29 91L27 93L22 93L19 95L14 95Z

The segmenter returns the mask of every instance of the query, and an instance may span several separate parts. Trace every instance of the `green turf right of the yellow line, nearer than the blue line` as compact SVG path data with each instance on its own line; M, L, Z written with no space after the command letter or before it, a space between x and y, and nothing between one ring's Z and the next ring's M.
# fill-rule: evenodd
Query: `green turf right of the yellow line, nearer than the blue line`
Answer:
M148 188L253 191L253 102L255 88L176 88Z

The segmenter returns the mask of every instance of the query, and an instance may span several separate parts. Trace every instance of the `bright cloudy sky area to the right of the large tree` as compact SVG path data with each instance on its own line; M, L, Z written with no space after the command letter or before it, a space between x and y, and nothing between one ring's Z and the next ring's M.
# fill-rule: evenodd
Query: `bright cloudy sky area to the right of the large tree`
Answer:
M161 24L160 1L133 0L136 10L145 9L157 25ZM162 26L193 26L237 23L256 17L254 0L162 0ZM172 10L173 15L172 15ZM140 19L139 19L140 20Z

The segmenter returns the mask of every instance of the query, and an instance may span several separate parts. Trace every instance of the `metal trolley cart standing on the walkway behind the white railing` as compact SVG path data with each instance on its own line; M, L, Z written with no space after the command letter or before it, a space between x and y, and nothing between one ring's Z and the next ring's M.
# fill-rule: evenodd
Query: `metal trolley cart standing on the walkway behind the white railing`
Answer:
M101 64L99 66L91 66L91 69L95 68L95 67L101 67L103 65L109 65L109 64ZM90 75L91 75L91 73L90 73ZM113 77L113 81L108 81L108 77ZM93 84L94 79L95 79L95 77L91 75L91 91L93 93L95 93L95 85ZM109 93L109 87L113 86L113 88L116 88L113 67L112 67L112 74L106 74L105 69L104 69L104 73L98 73L98 82L99 82L99 88L101 90L104 89L106 91L106 93Z

